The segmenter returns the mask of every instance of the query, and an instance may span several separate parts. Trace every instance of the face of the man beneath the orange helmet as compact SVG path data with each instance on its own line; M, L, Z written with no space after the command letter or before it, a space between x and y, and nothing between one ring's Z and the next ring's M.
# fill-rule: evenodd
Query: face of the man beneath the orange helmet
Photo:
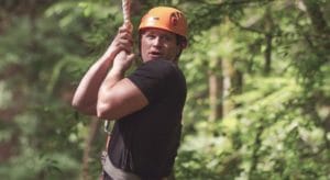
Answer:
M144 63L155 59L174 61L180 48L174 33L158 29L147 29L141 35L141 56Z

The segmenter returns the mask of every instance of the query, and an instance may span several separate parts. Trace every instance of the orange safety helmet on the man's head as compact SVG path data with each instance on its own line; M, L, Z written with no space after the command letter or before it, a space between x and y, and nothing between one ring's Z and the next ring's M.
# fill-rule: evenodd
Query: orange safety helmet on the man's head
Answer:
M141 20L139 31L147 27L166 30L187 40L187 21L182 11L169 7L151 9Z

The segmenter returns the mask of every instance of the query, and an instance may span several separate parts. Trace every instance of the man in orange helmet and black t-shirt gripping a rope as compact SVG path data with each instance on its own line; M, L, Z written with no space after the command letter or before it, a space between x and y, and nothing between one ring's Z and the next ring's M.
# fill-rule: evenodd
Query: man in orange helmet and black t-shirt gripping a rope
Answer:
M102 120L116 120L106 179L169 179L182 132L185 77L177 66L187 45L187 22L174 8L150 10L139 26L143 64L124 77L134 55L128 26L119 29L106 53L86 72L73 106Z

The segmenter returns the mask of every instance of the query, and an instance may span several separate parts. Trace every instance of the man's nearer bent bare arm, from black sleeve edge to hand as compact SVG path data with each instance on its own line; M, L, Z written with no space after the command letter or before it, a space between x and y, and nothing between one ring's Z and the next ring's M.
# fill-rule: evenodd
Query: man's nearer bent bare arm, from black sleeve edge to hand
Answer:
M131 66L133 55L122 52L117 55L113 66L101 83L98 93L97 115L99 119L116 120L147 105L141 90L124 72Z

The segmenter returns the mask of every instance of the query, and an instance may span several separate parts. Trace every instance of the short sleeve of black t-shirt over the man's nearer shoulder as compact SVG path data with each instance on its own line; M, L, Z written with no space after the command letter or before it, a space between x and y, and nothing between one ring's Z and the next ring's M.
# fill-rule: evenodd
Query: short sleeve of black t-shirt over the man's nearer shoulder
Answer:
M170 78L174 65L166 60L151 60L139 67L128 78L153 102L166 91L165 79Z

